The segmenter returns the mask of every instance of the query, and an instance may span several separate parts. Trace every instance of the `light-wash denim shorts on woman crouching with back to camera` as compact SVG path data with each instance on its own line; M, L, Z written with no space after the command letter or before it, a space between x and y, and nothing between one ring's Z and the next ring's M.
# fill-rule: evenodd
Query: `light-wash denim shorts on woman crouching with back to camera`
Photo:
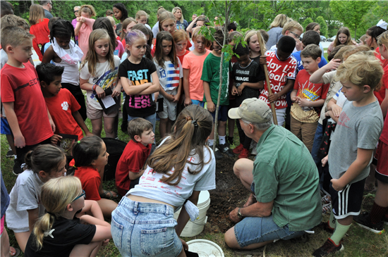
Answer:
M121 256L178 256L182 243L175 232L174 208L123 197L112 212L111 234Z

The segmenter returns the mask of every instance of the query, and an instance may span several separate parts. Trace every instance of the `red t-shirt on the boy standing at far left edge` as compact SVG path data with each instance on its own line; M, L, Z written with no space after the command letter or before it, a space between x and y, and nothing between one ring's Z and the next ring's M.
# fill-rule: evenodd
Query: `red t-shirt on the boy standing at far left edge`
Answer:
M24 68L5 64L1 69L1 101L13 102L25 144L32 146L48 139L54 133L49 123L37 72L31 63L23 64Z

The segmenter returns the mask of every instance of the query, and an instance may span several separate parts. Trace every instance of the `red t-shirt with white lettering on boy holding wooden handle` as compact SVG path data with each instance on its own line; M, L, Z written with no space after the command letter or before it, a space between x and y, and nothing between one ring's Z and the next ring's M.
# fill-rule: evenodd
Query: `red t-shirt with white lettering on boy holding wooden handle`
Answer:
M286 61L280 61L277 58L276 51L267 51L267 68L269 75L269 83L271 84L272 94L279 93L286 85L287 80L295 80L296 77L296 58L290 56ZM274 102L275 108L281 109L287 107L286 95L284 94ZM270 106L268 101L268 87L264 80L264 89L259 96L259 99L265 101Z

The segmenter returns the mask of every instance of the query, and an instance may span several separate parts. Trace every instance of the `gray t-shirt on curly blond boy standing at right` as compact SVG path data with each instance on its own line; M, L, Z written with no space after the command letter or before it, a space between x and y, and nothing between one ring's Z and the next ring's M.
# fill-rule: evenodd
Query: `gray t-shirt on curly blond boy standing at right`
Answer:
M383 124L377 100L362 107L353 106L352 101L345 102L329 149L329 172L333 178L339 179L346 173L353 161L356 161L358 148L375 149ZM351 183L368 177L371 162L372 158Z

